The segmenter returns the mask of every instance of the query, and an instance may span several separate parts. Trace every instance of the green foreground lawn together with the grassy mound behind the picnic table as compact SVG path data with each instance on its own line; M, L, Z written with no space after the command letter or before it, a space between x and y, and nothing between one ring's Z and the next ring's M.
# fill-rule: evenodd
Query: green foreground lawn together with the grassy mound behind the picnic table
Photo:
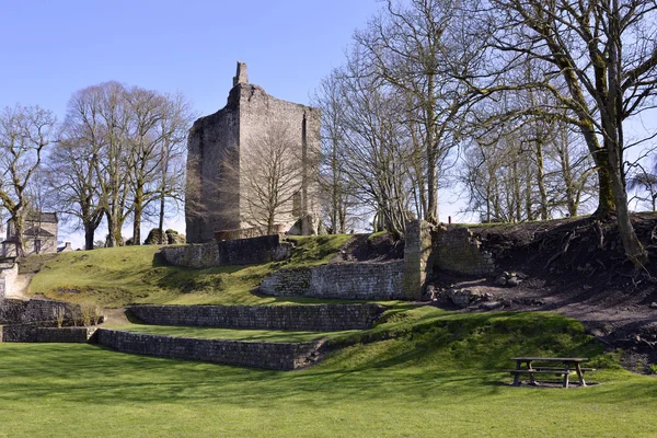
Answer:
M291 372L0 344L0 437L657 436L657 381L620 369L576 321L408 308L377 333ZM509 387L497 370L530 353L587 355L600 384Z

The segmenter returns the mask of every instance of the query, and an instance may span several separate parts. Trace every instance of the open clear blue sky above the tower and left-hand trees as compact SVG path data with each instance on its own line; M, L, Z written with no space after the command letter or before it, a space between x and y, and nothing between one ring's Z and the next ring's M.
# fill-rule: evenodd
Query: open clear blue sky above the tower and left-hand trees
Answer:
M0 107L39 105L59 119L74 91L110 80L181 91L199 115L211 114L226 104L238 60L247 64L250 82L307 104L322 77L344 61L355 28L381 7L376 0L0 3ZM180 219L169 227L184 232ZM60 240L82 244L62 231Z

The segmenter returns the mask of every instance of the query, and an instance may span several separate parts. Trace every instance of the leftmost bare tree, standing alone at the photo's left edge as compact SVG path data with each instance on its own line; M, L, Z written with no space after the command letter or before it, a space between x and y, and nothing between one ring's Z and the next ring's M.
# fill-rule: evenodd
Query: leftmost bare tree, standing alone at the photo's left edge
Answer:
M0 113L0 203L9 212L16 255L24 254L27 186L53 142L55 116L38 106L5 107Z

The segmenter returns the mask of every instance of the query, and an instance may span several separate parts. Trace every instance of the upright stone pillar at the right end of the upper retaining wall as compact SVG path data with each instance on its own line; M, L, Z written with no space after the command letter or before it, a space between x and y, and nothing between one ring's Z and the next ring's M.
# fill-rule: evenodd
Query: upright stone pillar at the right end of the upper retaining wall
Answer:
M422 299L427 275L431 273L433 264L429 262L429 256L433 228L424 220L413 220L406 224L403 289L408 300Z

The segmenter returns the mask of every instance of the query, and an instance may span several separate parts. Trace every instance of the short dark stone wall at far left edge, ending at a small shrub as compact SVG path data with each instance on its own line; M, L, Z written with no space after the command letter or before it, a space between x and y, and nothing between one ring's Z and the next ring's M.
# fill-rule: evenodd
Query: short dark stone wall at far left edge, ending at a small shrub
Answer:
M60 301L0 299L0 324L25 324L55 321L55 313L64 309L64 318L70 321L72 312L80 307Z

